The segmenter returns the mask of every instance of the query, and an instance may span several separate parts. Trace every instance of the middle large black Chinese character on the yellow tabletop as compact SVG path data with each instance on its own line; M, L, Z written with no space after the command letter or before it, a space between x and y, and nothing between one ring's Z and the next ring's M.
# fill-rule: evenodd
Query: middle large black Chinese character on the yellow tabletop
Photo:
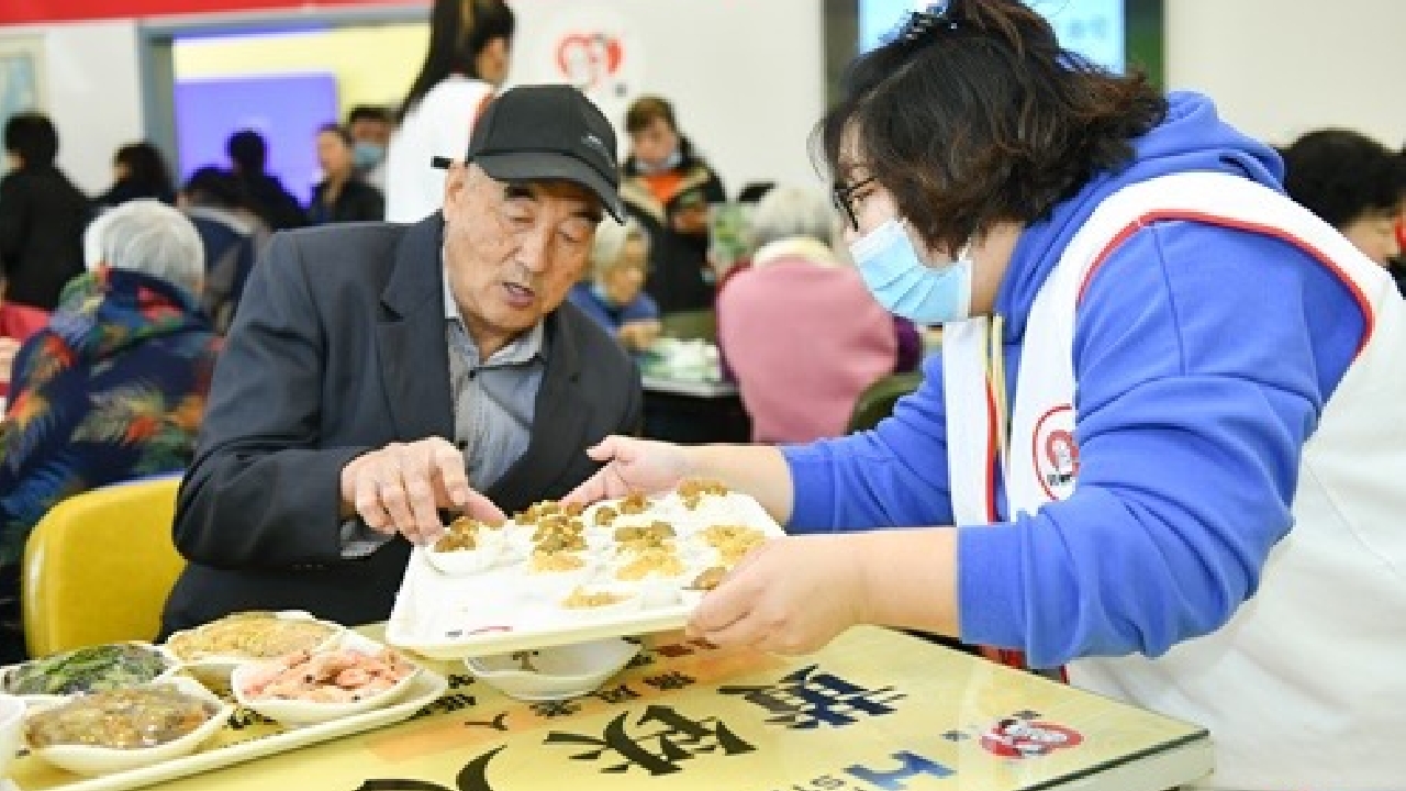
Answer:
M682 768L679 761L700 753L737 756L755 750L717 718L695 721L681 715L672 707L650 705L634 723L636 733L630 735L628 716L630 712L619 714L606 725L600 738L553 730L544 743L588 747L588 750L571 756L574 760L593 761L613 753L619 756L620 763L600 770L612 774L628 771L631 767L643 768L654 776L672 774Z

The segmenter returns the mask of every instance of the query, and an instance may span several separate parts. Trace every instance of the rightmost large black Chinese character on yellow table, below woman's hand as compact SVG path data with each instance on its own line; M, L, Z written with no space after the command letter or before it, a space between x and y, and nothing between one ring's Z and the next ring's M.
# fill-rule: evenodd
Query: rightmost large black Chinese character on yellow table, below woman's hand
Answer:
M776 716L766 722L785 725L793 730L810 730L821 725L844 728L859 716L883 716L894 709L889 704L903 700L893 687L868 690L832 674L817 671L817 666L801 667L775 684L720 687L724 695L741 695Z

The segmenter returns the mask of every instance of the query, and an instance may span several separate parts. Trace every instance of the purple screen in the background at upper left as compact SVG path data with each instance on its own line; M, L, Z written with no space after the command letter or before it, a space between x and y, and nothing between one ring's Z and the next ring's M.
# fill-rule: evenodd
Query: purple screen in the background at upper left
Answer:
M181 182L205 165L228 167L225 141L254 129L269 142L269 172L307 205L318 180L318 127L335 121L337 83L330 73L177 80Z

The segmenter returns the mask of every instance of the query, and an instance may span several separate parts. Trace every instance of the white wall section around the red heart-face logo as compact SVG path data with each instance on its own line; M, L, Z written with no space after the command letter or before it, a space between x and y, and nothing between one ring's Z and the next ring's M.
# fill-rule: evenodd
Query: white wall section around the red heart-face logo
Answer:
M643 48L631 97L669 99L679 127L713 163L728 193L751 180L820 186L807 135L825 104L820 0L513 0L519 32L513 79L548 79L540 45L561 17L595 10L624 24ZM631 52L627 49L626 58ZM624 139L624 103L607 107Z

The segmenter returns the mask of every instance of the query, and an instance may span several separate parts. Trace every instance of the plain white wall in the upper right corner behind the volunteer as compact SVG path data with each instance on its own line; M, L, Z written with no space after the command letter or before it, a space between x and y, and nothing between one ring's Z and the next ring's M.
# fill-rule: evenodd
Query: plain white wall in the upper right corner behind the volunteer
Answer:
M1167 0L1167 86L1274 144L1346 127L1406 142L1402 0Z

